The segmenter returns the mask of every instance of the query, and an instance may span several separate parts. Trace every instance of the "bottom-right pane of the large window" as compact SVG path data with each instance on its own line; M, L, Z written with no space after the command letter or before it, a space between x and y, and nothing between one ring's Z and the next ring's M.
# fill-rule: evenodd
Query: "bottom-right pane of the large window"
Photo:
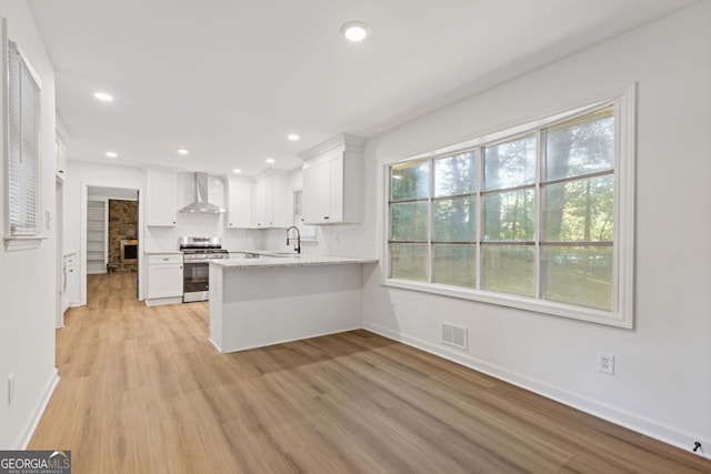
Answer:
M543 299L612 311L612 245L544 246Z

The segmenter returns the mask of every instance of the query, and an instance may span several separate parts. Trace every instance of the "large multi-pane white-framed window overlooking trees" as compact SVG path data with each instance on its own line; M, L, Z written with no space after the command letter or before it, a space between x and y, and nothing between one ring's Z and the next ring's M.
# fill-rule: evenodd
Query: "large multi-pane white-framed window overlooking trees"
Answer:
M624 99L390 163L387 284L631 327Z

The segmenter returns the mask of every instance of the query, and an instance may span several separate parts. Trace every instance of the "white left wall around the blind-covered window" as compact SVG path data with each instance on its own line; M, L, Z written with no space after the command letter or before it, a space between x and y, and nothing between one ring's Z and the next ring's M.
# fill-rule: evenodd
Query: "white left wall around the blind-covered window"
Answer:
M0 0L0 14L8 19L9 38L18 43L42 82L40 192L42 209L49 211L53 220L54 70L24 1ZM4 144L0 143L0 147ZM4 167L0 167L0 182L6 182ZM2 190L0 213L4 225L4 185ZM43 404L57 383L57 244L54 225L48 229L46 220L41 221L48 240L39 249L0 250L0 448L27 445ZM16 394L10 405L7 387L11 374L14 374Z

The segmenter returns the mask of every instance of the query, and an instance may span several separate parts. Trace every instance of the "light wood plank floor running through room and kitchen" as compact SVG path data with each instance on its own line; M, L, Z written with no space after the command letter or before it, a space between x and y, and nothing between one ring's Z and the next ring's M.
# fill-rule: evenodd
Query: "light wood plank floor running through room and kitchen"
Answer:
M208 305L96 275L30 448L73 473L691 473L711 462L367 331L220 354Z

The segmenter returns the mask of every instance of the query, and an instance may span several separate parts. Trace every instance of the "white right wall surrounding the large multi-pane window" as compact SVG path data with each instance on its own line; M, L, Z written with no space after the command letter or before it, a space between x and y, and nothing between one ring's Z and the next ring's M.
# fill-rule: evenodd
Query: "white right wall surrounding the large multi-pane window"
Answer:
M379 224L371 248L381 249L383 160L583 104L633 81L639 87L634 330L388 289L380 285L380 272L367 283L364 324L684 448L699 440L709 455L711 2L371 139L365 194L378 199L370 201L363 228ZM341 244L350 241L341 230L332 235L329 248L339 246L338 235ZM441 345L443 321L469 329L468 352ZM597 371L599 351L615 355L614 376Z

